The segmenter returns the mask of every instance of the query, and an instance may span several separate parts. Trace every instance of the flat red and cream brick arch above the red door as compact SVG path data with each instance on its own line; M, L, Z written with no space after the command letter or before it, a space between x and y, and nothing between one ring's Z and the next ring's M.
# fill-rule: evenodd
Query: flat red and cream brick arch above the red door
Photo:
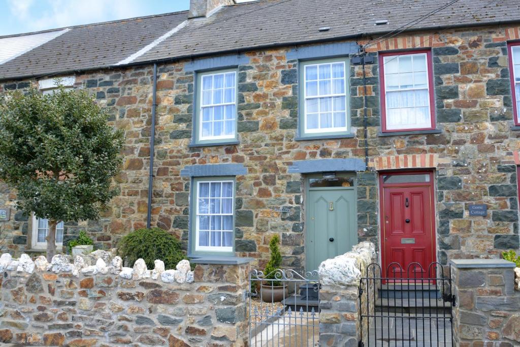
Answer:
M397 169L430 169L439 164L449 163L449 159L440 158L438 154L404 154L398 156L375 157L373 167L376 171Z

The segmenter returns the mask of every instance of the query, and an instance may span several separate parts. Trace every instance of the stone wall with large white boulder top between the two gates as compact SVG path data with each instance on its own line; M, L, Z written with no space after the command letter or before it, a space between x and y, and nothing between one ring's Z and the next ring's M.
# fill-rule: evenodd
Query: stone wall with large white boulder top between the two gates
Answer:
M352 251L320 264L321 346L358 345L362 328L359 312L367 307L366 302L359 304L359 281L361 277L367 277L367 266L377 261L374 244L360 242ZM370 282L373 285L373 281ZM373 288L370 291L373 292ZM362 297L367 300L366 298L366 295ZM368 321L365 320L366 322ZM366 326L363 329L366 331Z

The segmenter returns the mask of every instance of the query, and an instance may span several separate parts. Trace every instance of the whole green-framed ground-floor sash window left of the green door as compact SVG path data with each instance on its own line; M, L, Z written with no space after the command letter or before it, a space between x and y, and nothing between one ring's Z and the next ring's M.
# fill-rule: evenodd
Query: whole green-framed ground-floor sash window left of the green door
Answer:
M235 254L236 185L234 176L192 179L190 255Z

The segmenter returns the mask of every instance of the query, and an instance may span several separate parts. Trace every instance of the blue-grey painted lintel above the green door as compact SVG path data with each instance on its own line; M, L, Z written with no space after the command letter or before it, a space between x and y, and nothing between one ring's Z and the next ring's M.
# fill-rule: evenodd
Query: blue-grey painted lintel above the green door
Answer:
M314 159L293 161L289 173L319 173L342 171L365 171L365 162L358 158Z

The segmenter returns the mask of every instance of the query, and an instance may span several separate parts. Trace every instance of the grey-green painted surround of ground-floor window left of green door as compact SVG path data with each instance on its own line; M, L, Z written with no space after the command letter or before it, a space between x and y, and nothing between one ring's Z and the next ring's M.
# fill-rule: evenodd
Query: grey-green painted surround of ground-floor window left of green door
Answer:
M195 250L195 240L196 240L196 225L195 218L197 217L196 209L197 209L197 187L198 182L203 181L233 181L233 236L232 236L232 251L231 252L218 252L218 251L196 251ZM218 177L192 177L190 180L190 208L189 208L189 237L188 237L188 256L190 258L203 258L204 256L216 256L216 257L224 257L229 258L235 255L235 192L237 189L237 180L235 176L218 176ZM225 261L225 260L221 260ZM222 262L219 262L222 263Z

